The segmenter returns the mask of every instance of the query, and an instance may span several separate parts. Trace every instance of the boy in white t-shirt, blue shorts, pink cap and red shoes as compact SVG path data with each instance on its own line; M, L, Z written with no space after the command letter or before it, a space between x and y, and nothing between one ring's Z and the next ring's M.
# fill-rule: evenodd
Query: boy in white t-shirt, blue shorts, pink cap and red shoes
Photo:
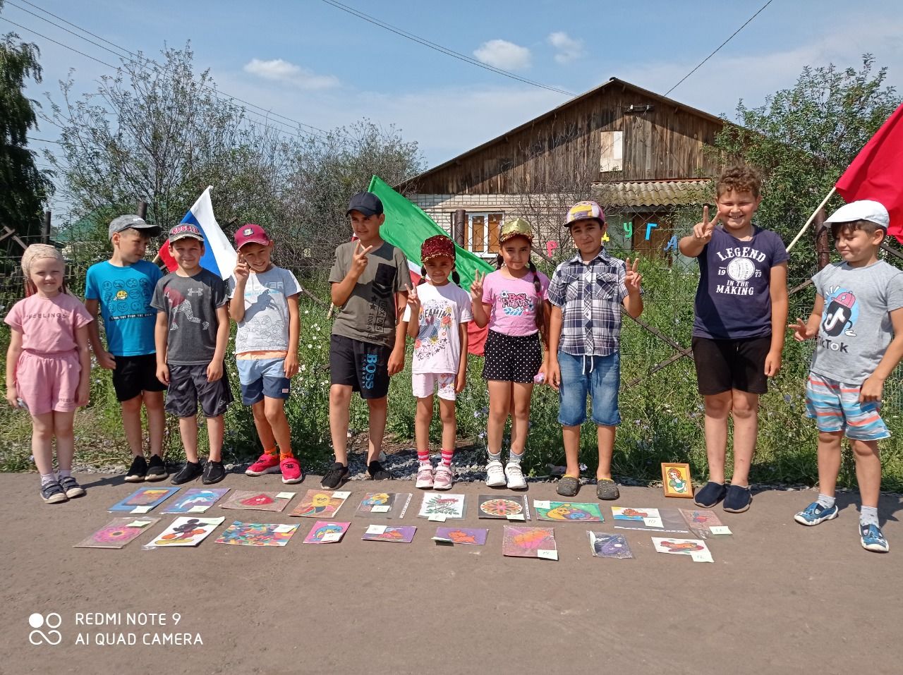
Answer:
M285 417L289 382L298 372L301 321L293 273L270 261L273 241L263 227L248 223L235 233L238 264L229 278L229 316L238 324L235 358L241 402L251 406L264 454L245 473L282 473L283 483L300 483ZM278 448L277 448L278 446Z

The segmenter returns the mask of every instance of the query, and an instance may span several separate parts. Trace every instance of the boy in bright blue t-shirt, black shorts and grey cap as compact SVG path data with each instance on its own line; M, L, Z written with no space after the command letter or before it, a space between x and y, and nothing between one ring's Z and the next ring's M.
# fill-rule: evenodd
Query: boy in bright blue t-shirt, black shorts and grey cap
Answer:
M163 480L163 390L156 376L154 323L151 307L154 286L163 276L160 268L144 260L151 237L160 227L134 215L119 216L109 227L113 255L91 265L85 278L85 307L104 320L107 349L100 341L98 322L88 324L91 349L101 367L113 371L113 388L122 410L122 426L134 456L126 481ZM150 462L144 459L141 406L147 411L147 435L151 441Z

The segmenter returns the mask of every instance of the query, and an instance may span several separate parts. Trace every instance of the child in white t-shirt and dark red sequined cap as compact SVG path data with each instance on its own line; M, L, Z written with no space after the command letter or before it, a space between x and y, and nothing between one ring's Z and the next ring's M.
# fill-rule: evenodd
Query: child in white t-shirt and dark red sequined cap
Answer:
M411 388L417 397L414 436L417 442L417 487L448 490L452 487L452 456L457 425L454 402L467 384L467 323L473 319L470 294L458 285L454 271L454 242L431 236L420 249L422 279L408 293L402 322L414 338ZM449 276L452 280L449 282ZM412 320L417 317L417 320ZM430 462L430 421L433 392L439 391L442 418L442 461L433 473Z

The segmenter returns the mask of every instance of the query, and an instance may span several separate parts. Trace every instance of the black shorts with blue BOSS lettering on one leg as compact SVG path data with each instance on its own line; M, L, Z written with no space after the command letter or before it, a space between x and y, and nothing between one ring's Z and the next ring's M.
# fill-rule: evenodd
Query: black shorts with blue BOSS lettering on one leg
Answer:
M362 399L381 399L389 393L389 355L386 345L330 337L330 382L351 385Z

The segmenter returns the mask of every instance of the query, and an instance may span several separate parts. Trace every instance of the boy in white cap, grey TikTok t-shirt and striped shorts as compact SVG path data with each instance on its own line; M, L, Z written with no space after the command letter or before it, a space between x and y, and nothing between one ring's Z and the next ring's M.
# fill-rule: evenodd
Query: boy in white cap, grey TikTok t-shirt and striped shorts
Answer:
M853 201L825 222L843 258L812 278L815 307L797 319L794 338L816 338L805 388L808 416L818 426L818 499L794 520L817 525L837 517L834 485L841 440L850 439L862 500L862 548L889 550L880 529L881 460L878 441L890 431L880 417L884 381L903 357L903 270L880 261L889 215L879 202Z

